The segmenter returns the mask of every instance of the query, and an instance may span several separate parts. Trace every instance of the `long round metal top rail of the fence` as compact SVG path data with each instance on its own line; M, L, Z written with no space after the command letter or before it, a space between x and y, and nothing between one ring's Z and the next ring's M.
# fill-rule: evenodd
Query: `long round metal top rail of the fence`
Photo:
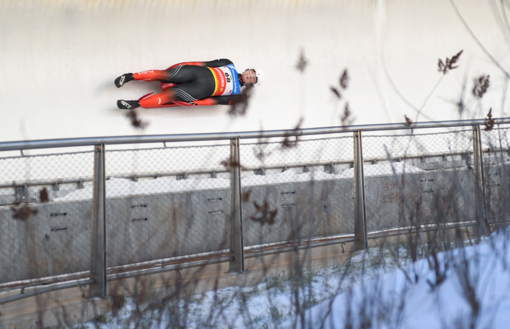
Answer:
M0 143L0 151L44 149L55 147L77 147L100 144L115 145L115 144L165 143L165 142L220 141L220 140L232 140L236 138L240 139L265 139L274 137L287 138L290 136L346 133L358 130L382 131L382 130L409 130L424 128L450 128L483 125L484 123L485 123L484 119L473 119L473 120L414 122L412 124L402 122L389 124L352 125L352 126L302 128L287 130L261 130L261 131L167 134L167 135L144 135L144 136L105 136L90 138L54 139L54 140L14 141ZM495 125L510 124L510 118L496 118L494 119L494 124Z

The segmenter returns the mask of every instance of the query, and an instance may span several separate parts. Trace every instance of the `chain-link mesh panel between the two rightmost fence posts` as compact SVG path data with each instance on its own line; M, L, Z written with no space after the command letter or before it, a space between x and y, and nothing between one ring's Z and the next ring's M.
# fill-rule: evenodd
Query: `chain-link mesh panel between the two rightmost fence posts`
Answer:
M367 230L473 220L472 130L364 136Z

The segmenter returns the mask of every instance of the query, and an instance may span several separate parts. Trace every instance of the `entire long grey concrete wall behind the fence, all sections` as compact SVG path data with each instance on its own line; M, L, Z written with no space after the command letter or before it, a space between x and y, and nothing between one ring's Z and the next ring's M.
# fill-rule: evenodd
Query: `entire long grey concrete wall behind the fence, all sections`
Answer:
M492 205L505 195L508 168L487 166ZM365 185L368 231L475 218L468 167L367 176ZM242 193L245 246L354 231L352 178ZM13 218L14 206L0 207L0 283L90 270L92 202L29 206L27 220ZM109 267L230 248L228 189L109 198L106 212Z

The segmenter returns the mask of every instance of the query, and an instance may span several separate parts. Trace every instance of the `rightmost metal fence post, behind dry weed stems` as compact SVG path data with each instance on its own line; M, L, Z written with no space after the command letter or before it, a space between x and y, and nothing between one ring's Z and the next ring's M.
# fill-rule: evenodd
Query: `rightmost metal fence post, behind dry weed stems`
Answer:
M481 236L487 233L486 223L486 200L485 200L485 186L483 174L483 152L481 149L481 130L480 125L473 126L473 161L475 172L475 208L476 218L478 220L478 235Z

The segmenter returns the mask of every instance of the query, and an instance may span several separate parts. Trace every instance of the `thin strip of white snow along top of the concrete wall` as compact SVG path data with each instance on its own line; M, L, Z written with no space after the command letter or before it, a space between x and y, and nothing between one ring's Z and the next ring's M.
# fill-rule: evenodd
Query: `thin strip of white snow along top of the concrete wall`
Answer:
M405 162L381 163L378 165L365 165L365 176L393 175L402 173L414 173L422 171ZM285 184L307 182L311 180L334 180L342 178L352 178L354 169L347 169L340 174L328 174L321 171L311 171L308 173L298 172L297 170L287 170L283 173L272 175L249 175L241 178L241 186L259 186L269 184ZM140 180L134 182L130 179L111 178L106 181L106 197L115 198L134 195L150 195L160 193L175 193L190 190L207 190L229 188L230 180L224 178L211 179L182 179L176 180L175 177L160 177L150 180ZM61 198L53 201L78 201L92 199L92 183L85 184L85 188L75 190Z

